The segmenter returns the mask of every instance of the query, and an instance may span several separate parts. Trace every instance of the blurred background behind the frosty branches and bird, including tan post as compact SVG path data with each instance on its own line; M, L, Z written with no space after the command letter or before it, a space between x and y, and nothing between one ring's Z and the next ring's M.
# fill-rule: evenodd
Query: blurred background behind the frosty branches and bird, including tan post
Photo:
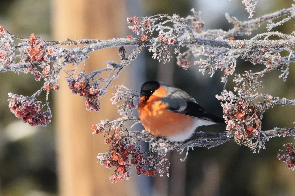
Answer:
M290 7L291 3L260 0L254 17ZM0 5L0 24L7 30L20 37L35 33L45 40L136 37L128 29L127 17L158 13L185 17L193 7L202 11L205 29L231 28L225 12L240 20L248 19L241 1L228 0L0 0ZM253 34L264 32L265 26ZM294 20L274 30L290 34ZM162 64L151 56L145 49L114 85L125 84L139 90L144 81L158 79L185 90L208 112L222 115L215 98L223 88L222 73L210 78L208 74L201 75L197 66L185 71L178 68L175 58ZM118 61L117 48L92 53L86 61L86 71L104 67L107 60ZM263 68L239 61L236 72ZM295 99L295 70L290 67L286 82L278 79L279 74L267 74L260 92ZM100 112L86 112L85 100L71 94L63 77L59 82L60 90L50 94L53 122L47 127L30 127L10 112L7 94L32 95L42 84L30 74L1 74L0 195L294 195L295 173L276 158L284 143L293 142L292 137L273 138L266 143L266 150L256 154L233 141L209 150L190 150L184 162L180 162L184 155L172 152L168 155L169 178L137 177L132 170L129 181L111 184L109 176L113 170L104 169L96 159L97 153L105 152L107 146L101 135L91 134L93 123L117 118L117 108L109 102L111 91L102 99ZM227 88L233 89L233 84ZM262 128L292 127L294 115L292 106L275 106L264 115ZM199 130L222 132L224 127L214 125Z

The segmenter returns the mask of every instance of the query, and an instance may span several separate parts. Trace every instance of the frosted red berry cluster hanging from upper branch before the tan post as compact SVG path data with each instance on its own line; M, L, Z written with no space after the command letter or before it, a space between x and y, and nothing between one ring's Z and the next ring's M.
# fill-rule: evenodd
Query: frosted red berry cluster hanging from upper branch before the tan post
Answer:
M100 103L98 97L100 96L100 89L98 87L91 85L85 77L78 77L77 79L70 78L67 81L73 94L86 97L86 110L99 111Z

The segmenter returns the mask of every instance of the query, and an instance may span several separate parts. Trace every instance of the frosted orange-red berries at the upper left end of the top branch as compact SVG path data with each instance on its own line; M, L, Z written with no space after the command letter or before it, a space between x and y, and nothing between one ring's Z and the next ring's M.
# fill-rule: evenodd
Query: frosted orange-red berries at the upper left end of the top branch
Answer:
M0 27L1 35L5 36L6 40L1 40L0 43L0 62L8 66L7 68L14 69L16 72L24 72L34 74L36 81L41 78L51 79L50 83L56 81L56 77L52 77L54 74L50 74L51 68L49 63L56 61L58 49L52 45L48 45L40 37L36 37L34 34L30 35L30 39L22 44L16 46L12 35L5 33L3 26ZM4 41L4 42L3 42ZM17 63L16 51L20 52L19 61L22 66L9 67L11 64ZM42 71L38 71L42 70ZM52 71L55 73L54 71Z

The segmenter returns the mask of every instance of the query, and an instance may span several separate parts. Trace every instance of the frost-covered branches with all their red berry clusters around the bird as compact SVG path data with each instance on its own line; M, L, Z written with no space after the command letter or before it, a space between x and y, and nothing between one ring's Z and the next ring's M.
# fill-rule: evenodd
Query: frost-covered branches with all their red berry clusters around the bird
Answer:
M257 2L242 1L250 17ZM57 80L61 71L67 74L66 81L72 93L85 97L86 110L99 111L99 99L106 94L112 81L117 79L122 69L130 65L146 47L153 53L154 59L163 63L169 62L174 52L177 65L183 69L191 66L190 59L194 57L193 64L198 65L203 74L213 76L218 70L224 72L221 78L224 90L216 95L216 98L221 102L226 130L220 133L195 133L192 138L182 143L171 143L165 138L156 138L147 131L139 131L136 127L140 123L135 112L139 93L123 85L113 86L114 96L111 103L118 104L118 112L122 117L112 121L101 120L92 126L93 133L101 133L105 137L104 142L109 145L109 150L99 153L98 159L106 168L116 168L110 177L112 182L129 179L131 165L135 165L137 174L168 175L169 160L166 154L172 150L180 153L185 151L185 159L189 148L212 148L234 140L238 144L248 146L253 152L259 152L272 137L295 136L295 128L261 130L261 120L266 110L274 105L295 105L295 101L257 93L262 87L263 76L271 71L280 70L282 73L278 77L286 81L289 65L295 62L292 50L295 47L294 35L270 31L273 27L294 18L294 5L243 22L226 14L228 22L233 25L233 28L227 31L205 30L200 12L195 12L194 9L191 11L192 15L187 17L157 14L150 17L127 18L128 27L138 35L137 38L128 35L127 38L110 40L45 41L34 34L30 35L29 39L17 37L0 26L0 73L12 71L18 74L32 74L36 81L42 81L40 89L31 96L10 93L11 111L32 126L46 126L51 119L48 95L52 90L59 89ZM280 22L272 22L278 18L281 19ZM262 23L267 23L265 33L246 40L235 39L235 36L250 36ZM63 48L63 45L77 47L68 49ZM132 47L133 51L127 54L125 47ZM108 61L105 68L90 73L85 69L77 72L77 67L85 64L89 53L104 48L119 48L120 62ZM281 56L282 52L289 55ZM244 74L235 74L238 59L259 66L261 71L246 70ZM230 79L236 84L233 91L226 89L227 81ZM43 91L46 92L45 103L38 99ZM45 110L42 110L43 108ZM148 142L149 150L142 152L139 141ZM287 151L281 151L278 158L294 169L295 148L292 144L286 146Z

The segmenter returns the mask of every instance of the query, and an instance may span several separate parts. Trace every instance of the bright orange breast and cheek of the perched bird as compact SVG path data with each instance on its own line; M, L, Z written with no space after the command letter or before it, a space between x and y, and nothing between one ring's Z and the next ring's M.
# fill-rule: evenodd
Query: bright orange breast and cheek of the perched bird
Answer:
M145 130L155 136L170 137L191 129L194 124L193 118L168 111L167 106L158 101L163 97L157 96L160 93L155 92L143 107L138 107L138 115Z

